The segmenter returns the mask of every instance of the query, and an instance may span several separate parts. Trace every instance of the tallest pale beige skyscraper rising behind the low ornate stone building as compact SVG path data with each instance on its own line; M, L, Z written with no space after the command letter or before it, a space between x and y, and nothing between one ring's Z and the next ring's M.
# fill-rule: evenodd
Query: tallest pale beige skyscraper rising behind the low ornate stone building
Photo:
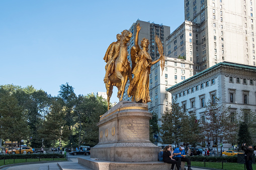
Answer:
M185 0L184 8L186 21L166 40L169 57L192 54L195 74L223 61L255 66L255 1ZM191 38L186 51L175 51L183 26Z

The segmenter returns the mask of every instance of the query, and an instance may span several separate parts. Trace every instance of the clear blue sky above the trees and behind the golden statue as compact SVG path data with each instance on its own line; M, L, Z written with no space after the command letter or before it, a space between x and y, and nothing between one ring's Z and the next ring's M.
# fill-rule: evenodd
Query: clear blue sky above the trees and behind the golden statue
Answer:
M0 85L56 96L68 82L76 94L104 92L106 50L137 19L173 32L184 22L184 1L0 1Z

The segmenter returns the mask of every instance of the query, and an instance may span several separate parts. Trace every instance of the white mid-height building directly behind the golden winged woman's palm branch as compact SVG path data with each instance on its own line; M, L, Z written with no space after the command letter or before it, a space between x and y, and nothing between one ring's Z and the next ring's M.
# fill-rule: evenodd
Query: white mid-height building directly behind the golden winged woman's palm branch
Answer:
M166 91L193 76L193 62L188 60L165 57L163 72L159 62L151 66L149 75L149 95L151 102L148 103L148 110L155 112L158 118L165 110L170 108L172 96ZM161 125L161 121L158 121Z

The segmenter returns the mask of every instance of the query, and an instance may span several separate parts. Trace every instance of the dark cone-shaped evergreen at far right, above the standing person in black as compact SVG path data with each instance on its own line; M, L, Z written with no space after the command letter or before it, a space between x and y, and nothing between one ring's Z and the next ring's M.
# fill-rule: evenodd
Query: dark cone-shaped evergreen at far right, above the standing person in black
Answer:
M251 144L251 137L250 133L248 131L248 126L245 122L241 122L239 126L239 131L238 131L238 139L237 143L241 145L242 143L248 143Z

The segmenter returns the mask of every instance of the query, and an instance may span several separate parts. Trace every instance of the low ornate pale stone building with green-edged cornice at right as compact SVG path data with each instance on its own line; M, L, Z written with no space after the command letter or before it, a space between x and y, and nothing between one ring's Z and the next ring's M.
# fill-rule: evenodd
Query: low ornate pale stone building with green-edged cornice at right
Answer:
M180 106L194 112L200 122L205 121L205 104L215 97L232 113L230 121L242 116L240 109L256 112L256 67L230 62L218 63L166 91ZM235 114L236 113L236 114Z

